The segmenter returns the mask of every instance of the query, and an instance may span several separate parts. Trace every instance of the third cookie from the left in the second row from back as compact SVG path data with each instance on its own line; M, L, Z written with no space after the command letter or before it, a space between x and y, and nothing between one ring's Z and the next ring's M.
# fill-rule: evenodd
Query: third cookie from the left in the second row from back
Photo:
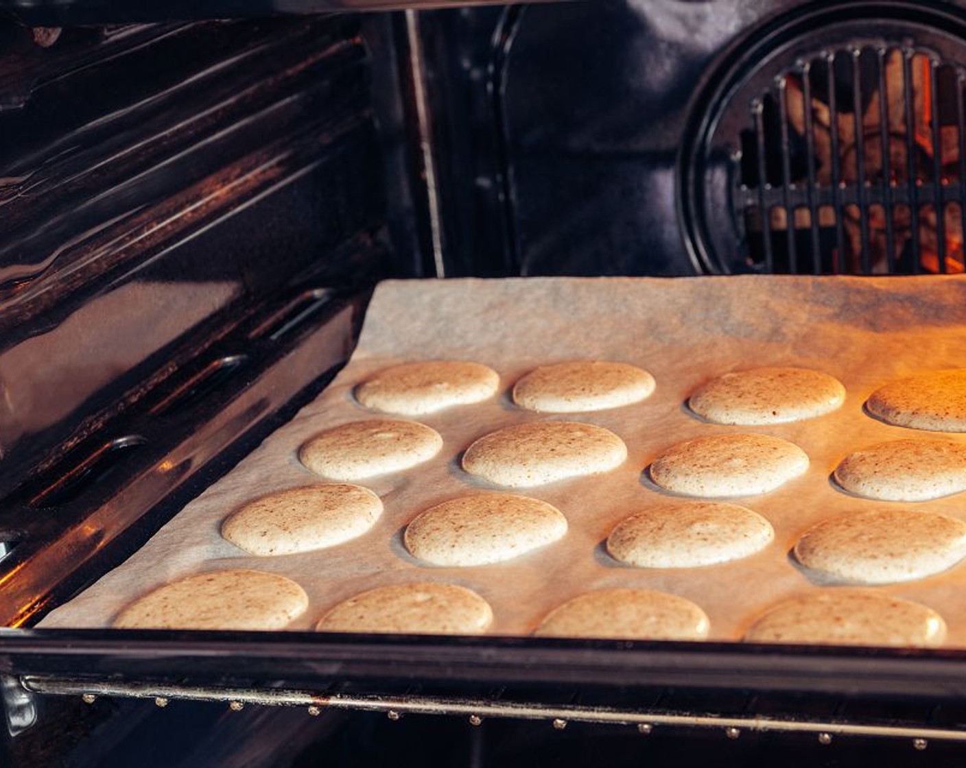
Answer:
M705 498L766 494L809 469L794 443L734 433L679 442L650 466L651 479L677 494Z

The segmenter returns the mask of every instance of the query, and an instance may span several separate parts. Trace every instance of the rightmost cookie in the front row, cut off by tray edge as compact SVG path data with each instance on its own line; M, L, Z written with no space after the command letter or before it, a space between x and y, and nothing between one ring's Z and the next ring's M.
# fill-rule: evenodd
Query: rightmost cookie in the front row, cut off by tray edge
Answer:
M785 600L753 623L750 642L933 647L946 638L939 613L862 590L830 590Z

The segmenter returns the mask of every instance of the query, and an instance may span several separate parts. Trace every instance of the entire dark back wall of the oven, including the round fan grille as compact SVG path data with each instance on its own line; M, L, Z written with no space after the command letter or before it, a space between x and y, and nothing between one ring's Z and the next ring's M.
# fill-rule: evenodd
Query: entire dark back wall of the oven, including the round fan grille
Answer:
M450 275L962 271L963 18L927 0L419 14L426 247Z

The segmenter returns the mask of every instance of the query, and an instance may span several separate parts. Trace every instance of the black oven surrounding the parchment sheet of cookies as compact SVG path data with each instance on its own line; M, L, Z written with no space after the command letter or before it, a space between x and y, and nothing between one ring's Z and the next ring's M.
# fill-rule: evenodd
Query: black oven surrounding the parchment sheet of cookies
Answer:
M956 649L37 624L387 278L962 272L966 6L0 8L0 762L963 759Z

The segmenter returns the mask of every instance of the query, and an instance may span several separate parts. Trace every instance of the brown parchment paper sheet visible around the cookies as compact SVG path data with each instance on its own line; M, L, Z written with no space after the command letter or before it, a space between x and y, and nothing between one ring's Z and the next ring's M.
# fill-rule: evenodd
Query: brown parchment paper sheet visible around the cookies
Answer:
M475 360L495 368L501 393L491 402L421 419L440 432L440 455L415 469L361 482L384 500L365 535L319 552L255 557L224 541L222 520L271 491L321 480L298 463L298 446L316 433L377 416L355 403L353 387L387 365L412 359ZM512 384L535 365L566 359L630 362L650 371L655 393L605 412L542 415L516 408ZM845 384L844 406L825 416L767 427L703 423L683 407L698 384L758 365L800 365ZM555 606L590 589L665 590L695 601L711 619L712 640L739 640L753 619L782 598L821 583L788 553L819 520L875 506L943 512L966 520L966 494L907 503L838 491L829 475L850 451L896 438L952 437L893 427L863 412L868 394L898 376L966 366L966 279L942 277L732 276L688 278L514 278L390 281L369 306L347 367L311 404L236 469L191 501L135 555L68 604L43 627L107 627L129 601L163 583L207 570L254 568L284 574L310 606L291 629L310 629L327 609L388 583L467 586L493 606L494 635L529 634ZM471 568L421 566L402 546L406 524L428 506L478 490L459 457L476 438L508 424L584 421L627 443L626 464L606 474L520 491L557 506L564 539L516 560ZM692 569L624 567L602 546L612 526L666 497L642 469L668 445L701 435L759 432L800 445L808 473L770 494L735 498L766 517L776 538L763 552ZM869 587L922 602L949 625L950 646L966 647L966 562L912 583Z

